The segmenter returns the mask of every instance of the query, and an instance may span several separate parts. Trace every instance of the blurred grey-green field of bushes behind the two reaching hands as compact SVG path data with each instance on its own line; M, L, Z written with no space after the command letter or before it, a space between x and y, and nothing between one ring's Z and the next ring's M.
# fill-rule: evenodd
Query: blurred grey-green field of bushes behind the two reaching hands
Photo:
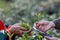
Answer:
M60 0L0 0L0 19L5 24L23 21L33 26L33 23L38 20L52 21L59 17ZM49 33L60 37L55 31Z

